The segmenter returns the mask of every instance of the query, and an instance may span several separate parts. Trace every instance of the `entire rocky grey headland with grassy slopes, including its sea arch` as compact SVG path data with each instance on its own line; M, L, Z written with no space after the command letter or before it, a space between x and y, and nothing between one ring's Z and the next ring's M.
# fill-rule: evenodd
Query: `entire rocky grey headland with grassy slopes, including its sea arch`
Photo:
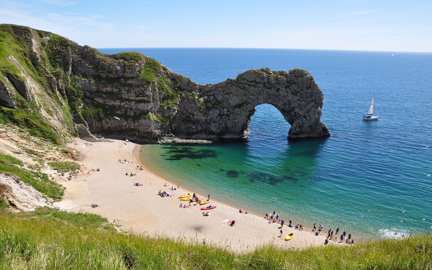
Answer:
M9 114L41 114L57 135L76 132L73 121L95 134L141 142L172 134L236 139L247 135L254 108L263 103L291 124L290 138L330 135L320 120L321 89L301 69L248 70L198 85L140 53L101 54L25 26L0 25L0 32L0 45L8 48L0 52L0 105Z

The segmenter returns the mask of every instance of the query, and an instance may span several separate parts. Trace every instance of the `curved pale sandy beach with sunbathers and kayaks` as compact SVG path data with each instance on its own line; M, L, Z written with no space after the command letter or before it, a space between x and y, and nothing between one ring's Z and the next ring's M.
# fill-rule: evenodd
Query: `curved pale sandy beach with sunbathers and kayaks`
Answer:
M175 238L187 241L200 241L206 239L207 243L220 245L232 251L248 251L258 245L273 244L286 248L303 248L308 246L324 245L327 230L324 227L321 235L314 235L310 229L298 231L289 228L287 217L280 217L286 221L283 226L283 236L280 236L280 224L269 223L269 220L254 214L239 213L237 208L218 201L209 204L217 205L215 209L208 210L211 216L203 216L200 205L188 208L180 208L181 201L178 196L191 193L193 189L180 187L177 191L169 191L164 187L172 183L160 178L144 167L133 151L138 151L139 145L127 143L121 140L113 140L113 143L88 143L76 139L73 147L86 155L82 163L86 169L82 170L76 179L64 182L66 187L64 199L54 206L61 210L82 213L95 213L106 217L109 222L121 225L123 231L130 231L149 237ZM85 147L83 147L85 146ZM121 163L119 159L127 159L132 163ZM92 168L100 168L100 172L92 171ZM136 173L133 177L126 173ZM142 183L136 187L133 183ZM176 186L175 186L176 187ZM158 196L159 190L171 192L172 197ZM206 198L207 194L198 194L200 198ZM92 208L96 203L99 207ZM248 211L246 207L243 210ZM223 220L235 220L235 226L229 226ZM293 225L297 224L293 220ZM325 226L325 225L324 225ZM295 232L295 237L285 241L286 235ZM337 243L335 240L330 243Z

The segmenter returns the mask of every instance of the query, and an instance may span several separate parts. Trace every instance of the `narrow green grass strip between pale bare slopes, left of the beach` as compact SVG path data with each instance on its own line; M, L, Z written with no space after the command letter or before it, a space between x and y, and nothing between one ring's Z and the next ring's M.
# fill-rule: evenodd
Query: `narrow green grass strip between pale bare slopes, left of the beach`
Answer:
M64 194L64 188L48 179L48 175L19 168L23 162L12 156L0 153L0 172L11 173L18 176L25 183L31 184L37 191L56 200L60 200Z

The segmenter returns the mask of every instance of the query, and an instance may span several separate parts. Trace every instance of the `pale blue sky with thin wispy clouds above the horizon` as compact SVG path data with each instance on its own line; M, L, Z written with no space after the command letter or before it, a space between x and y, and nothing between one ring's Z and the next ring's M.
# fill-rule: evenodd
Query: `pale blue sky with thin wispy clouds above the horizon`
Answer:
M0 0L0 23L95 48L432 51L430 0Z

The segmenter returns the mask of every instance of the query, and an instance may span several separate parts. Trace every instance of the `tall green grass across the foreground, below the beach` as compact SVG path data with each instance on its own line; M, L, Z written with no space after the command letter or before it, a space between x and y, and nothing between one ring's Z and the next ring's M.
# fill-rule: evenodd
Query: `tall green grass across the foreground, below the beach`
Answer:
M95 225L93 226L93 223ZM379 240L283 250L270 245L232 253L196 241L124 235L105 229L106 219L39 209L0 214L3 269L187 270L411 270L432 268L432 237ZM184 240L184 239L183 239Z

